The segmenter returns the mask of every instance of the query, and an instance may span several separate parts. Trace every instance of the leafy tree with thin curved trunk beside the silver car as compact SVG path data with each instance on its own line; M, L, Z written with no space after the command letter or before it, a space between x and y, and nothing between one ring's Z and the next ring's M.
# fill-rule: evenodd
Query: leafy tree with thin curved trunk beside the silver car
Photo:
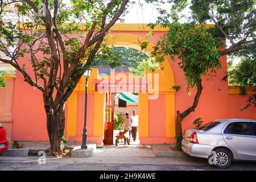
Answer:
M155 3L157 6L159 16L156 23L170 28L167 34L160 38L152 56L156 57L158 62L163 61L164 55L170 56L172 60L179 59L178 64L184 71L188 91L190 88L197 89L192 106L182 113L177 110L176 139L177 147L181 149L181 121L197 107L203 90L201 76L207 75L208 72L215 73L221 67L218 61L220 56L242 56L244 61L240 64L240 68L244 68L250 64L251 55L255 55L255 0L147 0L147 2ZM170 10L165 9L164 3L171 5ZM191 12L188 13L188 10ZM184 18L187 18L187 22L180 24L179 22ZM213 23L214 26L204 28L201 25L207 23ZM148 26L153 29L155 23L150 23ZM245 65L246 60L249 62ZM247 81L251 79L254 78L250 77ZM179 90L180 86L175 85L172 89ZM249 104L250 102L251 100Z

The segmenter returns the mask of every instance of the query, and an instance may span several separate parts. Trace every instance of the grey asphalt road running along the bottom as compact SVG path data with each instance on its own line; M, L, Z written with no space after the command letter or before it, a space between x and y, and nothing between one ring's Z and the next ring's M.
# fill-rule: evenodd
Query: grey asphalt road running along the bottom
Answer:
M209 166L203 159L170 159L170 158L47 158L46 164L39 164L37 156L29 157L0 157L0 171L5 170L121 170L121 171L212 171L220 170ZM42 160L39 160L42 162ZM225 169L256 171L255 162L233 162Z

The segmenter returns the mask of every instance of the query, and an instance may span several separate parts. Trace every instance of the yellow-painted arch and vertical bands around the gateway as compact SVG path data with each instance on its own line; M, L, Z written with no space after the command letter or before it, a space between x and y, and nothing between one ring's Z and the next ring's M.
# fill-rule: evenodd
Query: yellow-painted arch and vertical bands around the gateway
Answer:
M122 24L122 26L124 26L124 24ZM133 31L138 31L138 30L133 29ZM120 33L120 34L112 34L112 37L110 36L108 38L108 40L106 41L106 44L108 44L110 47L112 46L113 47L130 47L130 48L134 48L141 51L141 47L139 45L138 40L141 42L144 40L144 38L135 34ZM154 43L152 42L148 43L147 51L145 52L148 56L150 51L152 51L152 47L154 46L155 46ZM158 75L159 76L159 94L166 94L166 116L165 116L166 117L166 136L174 137L175 136L175 108L174 108L175 107L175 90L171 89L171 86L175 85L174 73L172 72L171 65L167 59L164 60L164 62L162 63L162 66L164 67L163 70L160 70L160 69L155 70L154 73L152 73L149 70L146 70L145 73L146 73L147 79L149 79L150 81L150 84L154 84L154 77L150 78L150 75L147 75L147 73L152 73L152 76L155 73L159 73ZM138 76L130 76L129 78L134 78L134 77L138 77ZM110 76L99 77L98 69L93 68L92 74L88 81L88 92L94 94L93 137L104 137L105 93L99 93L95 91L96 80L101 80L104 78L110 78ZM79 84L76 86L74 92L72 93L72 95L73 94L77 95L78 93L84 93L84 92L85 92L85 79L84 77L82 77L80 79ZM154 93L139 92L138 110L139 110L139 136L140 137L149 136L148 96L150 94L154 94ZM76 102L75 100L71 101L70 105L74 105L74 106L76 105L77 107L77 101ZM71 108L72 106L68 107L68 113L72 112L69 110ZM75 114L77 114L77 111L75 111ZM71 124L71 121L69 120L70 119L68 118L68 126L69 126L68 131L70 131L73 126L73 124Z

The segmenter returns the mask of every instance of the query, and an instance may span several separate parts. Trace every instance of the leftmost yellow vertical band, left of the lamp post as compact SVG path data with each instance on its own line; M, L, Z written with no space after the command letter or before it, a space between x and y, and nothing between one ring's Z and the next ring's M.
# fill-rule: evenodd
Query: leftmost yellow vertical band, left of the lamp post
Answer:
M68 99L68 115L67 115L67 136L76 136L77 123L77 92L71 94Z

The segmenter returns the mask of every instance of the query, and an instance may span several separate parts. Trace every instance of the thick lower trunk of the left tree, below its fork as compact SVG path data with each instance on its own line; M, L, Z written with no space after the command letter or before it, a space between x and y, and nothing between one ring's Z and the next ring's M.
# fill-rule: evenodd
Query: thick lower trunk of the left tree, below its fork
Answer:
M50 154L57 156L61 154L60 140L64 135L65 128L65 104L57 109L50 109L47 113L47 131L51 144Z

